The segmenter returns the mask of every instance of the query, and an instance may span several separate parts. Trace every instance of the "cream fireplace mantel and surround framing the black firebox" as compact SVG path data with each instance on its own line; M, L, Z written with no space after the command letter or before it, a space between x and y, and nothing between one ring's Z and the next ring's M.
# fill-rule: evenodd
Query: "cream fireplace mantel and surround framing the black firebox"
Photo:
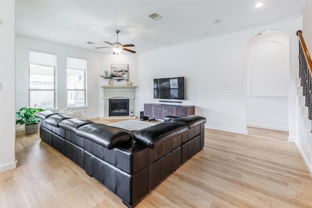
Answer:
M110 99L129 99L129 111L135 111L135 92L137 86L134 85L102 85L104 99L104 117L109 116ZM130 115L130 112L129 112Z

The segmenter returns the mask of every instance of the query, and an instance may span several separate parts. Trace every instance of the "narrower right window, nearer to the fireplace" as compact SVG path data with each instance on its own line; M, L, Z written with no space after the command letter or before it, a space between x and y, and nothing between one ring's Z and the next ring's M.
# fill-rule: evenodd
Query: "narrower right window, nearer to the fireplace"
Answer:
M87 60L67 57L67 106L86 106Z

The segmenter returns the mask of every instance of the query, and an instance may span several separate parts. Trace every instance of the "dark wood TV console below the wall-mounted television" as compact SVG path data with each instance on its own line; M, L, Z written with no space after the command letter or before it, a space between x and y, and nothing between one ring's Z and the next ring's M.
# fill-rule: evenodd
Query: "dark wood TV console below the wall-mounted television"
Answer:
M185 117L195 114L195 106L192 105L166 105L159 103L145 103L144 104L144 116L147 116L150 120L164 119L168 115L177 117Z

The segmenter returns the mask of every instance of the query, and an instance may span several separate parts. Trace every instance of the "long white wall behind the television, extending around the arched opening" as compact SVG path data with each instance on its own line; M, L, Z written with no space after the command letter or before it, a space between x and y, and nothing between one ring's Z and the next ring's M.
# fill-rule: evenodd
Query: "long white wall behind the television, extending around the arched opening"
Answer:
M139 108L158 102L153 98L153 78L185 76L182 104L195 105L195 114L207 118L206 128L247 134L248 41L262 31L283 31L291 41L291 75L298 74L295 33L300 27L301 18L294 18L140 55ZM295 92L290 94L295 99ZM292 111L290 119L295 117Z

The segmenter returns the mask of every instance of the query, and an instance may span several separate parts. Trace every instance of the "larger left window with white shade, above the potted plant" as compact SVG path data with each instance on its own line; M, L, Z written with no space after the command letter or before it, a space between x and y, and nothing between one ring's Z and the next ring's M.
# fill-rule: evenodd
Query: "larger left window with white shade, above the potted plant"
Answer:
M29 107L55 109L56 55L29 51Z

